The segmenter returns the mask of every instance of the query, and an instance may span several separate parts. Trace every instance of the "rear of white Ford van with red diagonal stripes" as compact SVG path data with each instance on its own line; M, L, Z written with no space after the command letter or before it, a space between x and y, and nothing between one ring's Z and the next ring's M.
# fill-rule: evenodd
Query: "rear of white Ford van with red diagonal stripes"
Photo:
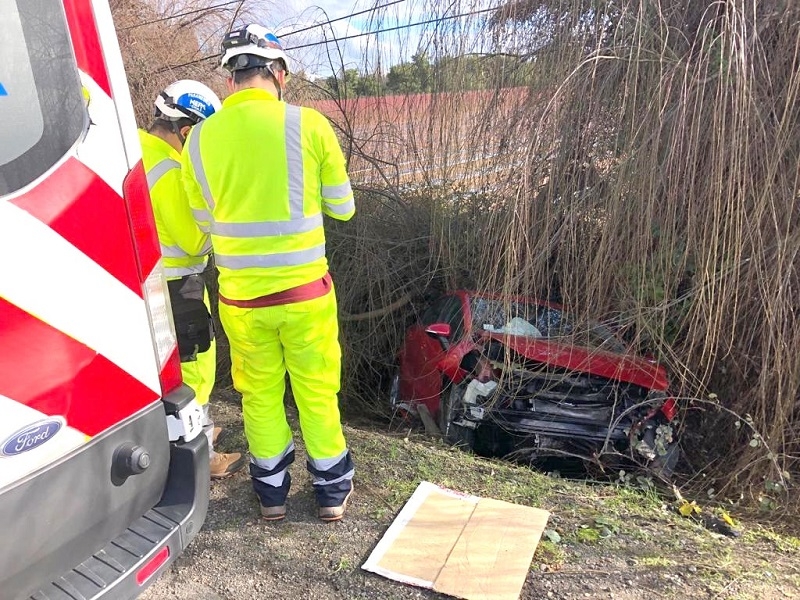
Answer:
M0 596L128 597L208 494L204 436L169 442L162 399L192 394L133 110L105 0L0 0L0 24Z

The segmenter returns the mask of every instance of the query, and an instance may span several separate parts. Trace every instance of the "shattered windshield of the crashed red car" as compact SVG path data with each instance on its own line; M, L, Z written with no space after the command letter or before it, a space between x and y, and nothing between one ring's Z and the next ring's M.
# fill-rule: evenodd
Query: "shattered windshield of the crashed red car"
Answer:
M625 351L625 346L608 327L596 322L578 323L570 315L549 306L472 296L470 311L473 328L478 331L528 338L558 338L576 346Z

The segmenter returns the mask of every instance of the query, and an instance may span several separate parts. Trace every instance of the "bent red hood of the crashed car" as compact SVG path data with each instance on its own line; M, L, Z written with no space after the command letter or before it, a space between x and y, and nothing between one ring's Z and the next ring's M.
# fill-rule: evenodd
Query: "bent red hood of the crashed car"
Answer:
M665 391L669 385L667 372L663 367L638 356L502 333L489 333L488 336L517 354L537 362L633 383L650 390Z

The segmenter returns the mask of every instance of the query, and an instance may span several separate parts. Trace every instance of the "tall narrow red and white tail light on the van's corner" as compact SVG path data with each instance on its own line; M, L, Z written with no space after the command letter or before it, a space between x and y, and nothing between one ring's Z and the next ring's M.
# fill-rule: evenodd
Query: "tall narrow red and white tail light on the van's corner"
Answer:
M141 160L125 177L122 192L136 248L139 281L142 282L144 300L150 315L150 335L158 360L161 392L166 395L181 385L181 365L167 280L161 266L161 246L158 243L147 176Z

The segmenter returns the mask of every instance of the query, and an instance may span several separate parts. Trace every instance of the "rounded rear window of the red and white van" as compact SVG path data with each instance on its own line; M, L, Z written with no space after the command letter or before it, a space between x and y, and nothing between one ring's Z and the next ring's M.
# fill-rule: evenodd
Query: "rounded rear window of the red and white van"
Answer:
M88 121L61 0L0 0L0 196L44 174Z

